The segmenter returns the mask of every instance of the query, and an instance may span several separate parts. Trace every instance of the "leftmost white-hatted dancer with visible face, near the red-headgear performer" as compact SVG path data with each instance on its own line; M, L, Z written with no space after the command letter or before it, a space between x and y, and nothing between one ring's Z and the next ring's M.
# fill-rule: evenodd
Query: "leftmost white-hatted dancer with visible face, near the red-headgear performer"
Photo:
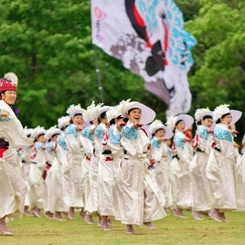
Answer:
M44 137L46 130L43 127L36 127L31 137L35 139L34 146L32 147L31 165L29 172L29 185L30 185L30 204L29 212L40 218L41 209L44 208L46 185L43 179L43 174L46 168L46 139Z

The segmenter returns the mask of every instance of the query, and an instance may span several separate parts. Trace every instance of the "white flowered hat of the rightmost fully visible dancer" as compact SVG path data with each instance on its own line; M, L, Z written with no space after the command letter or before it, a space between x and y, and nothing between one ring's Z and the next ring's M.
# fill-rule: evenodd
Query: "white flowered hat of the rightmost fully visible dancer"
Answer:
M214 120L217 122L225 114L230 113L232 116L231 125L234 125L242 116L242 112L238 110L230 110L228 104L219 105L214 109Z

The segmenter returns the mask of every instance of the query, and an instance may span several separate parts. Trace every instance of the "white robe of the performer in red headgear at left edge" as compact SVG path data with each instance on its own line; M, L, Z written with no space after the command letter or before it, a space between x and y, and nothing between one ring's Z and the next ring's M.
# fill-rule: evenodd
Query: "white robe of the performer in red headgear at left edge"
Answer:
M33 139L27 138L20 121L11 107L0 100L0 111L7 110L9 116L3 120L0 116L0 138L9 142L9 148L0 158L0 218L21 217L24 211L26 184L17 152L13 148L30 146Z

